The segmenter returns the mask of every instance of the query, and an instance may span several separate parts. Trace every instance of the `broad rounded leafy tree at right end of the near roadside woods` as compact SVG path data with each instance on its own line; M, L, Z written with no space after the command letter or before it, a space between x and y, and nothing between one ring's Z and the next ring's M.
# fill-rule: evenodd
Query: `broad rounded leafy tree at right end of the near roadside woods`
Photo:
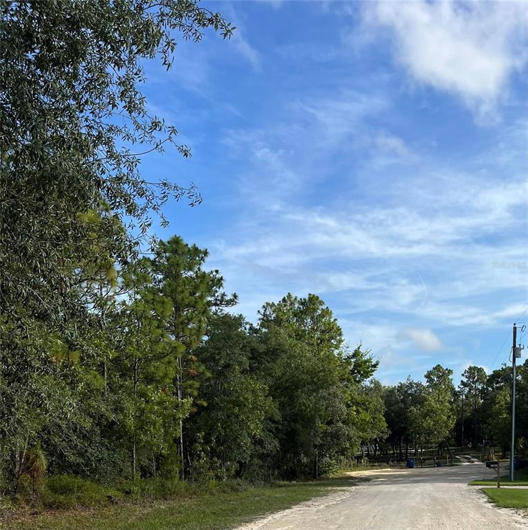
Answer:
M358 426L372 402L359 385L376 363L343 349L341 328L317 295L268 302L254 333L253 362L281 415L276 467L288 476L330 471L366 436Z

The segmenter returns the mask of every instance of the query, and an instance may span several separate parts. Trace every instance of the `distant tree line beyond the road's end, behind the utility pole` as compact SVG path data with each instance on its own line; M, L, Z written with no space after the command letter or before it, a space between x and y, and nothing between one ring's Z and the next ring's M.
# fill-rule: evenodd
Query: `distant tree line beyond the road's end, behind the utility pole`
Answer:
M384 389L385 419L390 435L384 454L404 459L422 449L440 453L453 446L468 451L500 448L509 452L511 434L511 367L487 374L469 366L455 388L453 371L437 365L425 375L425 384L410 377ZM528 362L517 369L516 449L528 442Z

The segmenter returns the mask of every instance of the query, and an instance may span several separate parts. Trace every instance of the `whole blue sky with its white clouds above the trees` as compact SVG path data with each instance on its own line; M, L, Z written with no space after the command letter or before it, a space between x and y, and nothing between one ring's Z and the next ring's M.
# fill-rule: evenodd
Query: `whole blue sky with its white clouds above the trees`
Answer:
M528 3L206 2L237 26L146 67L193 157L171 204L238 311L317 293L382 382L495 369L528 322ZM501 349L502 348L502 349Z

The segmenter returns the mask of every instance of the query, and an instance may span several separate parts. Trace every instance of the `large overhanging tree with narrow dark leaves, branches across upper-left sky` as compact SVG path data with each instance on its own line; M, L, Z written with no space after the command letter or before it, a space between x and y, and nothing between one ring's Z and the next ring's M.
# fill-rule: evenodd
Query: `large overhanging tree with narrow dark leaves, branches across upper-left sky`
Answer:
M176 128L147 112L142 61L169 68L176 32L199 41L207 28L224 37L233 28L194 0L21 0L1 14L0 306L60 320L75 307L71 266L93 243L80 213L107 204L106 240L126 259L132 236L113 216L144 232L169 197L200 200L194 188L140 176L141 153L175 144L189 156Z

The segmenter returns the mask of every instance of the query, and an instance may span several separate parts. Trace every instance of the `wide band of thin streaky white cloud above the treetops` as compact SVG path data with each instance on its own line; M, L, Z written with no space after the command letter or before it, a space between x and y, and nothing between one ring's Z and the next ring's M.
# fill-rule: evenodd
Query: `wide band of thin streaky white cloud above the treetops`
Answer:
M383 353L388 359L401 354L406 344L413 348L416 362L406 362L402 371L427 368L430 360L418 360L416 351L449 351L439 349L442 342L428 333L431 326L493 328L509 322L527 291L523 267L528 266L528 253L519 234L525 231L528 185L525 162L518 157L525 130L512 133L509 158L490 152L471 160L471 170L462 170L456 162L415 153L403 139L370 126L377 104L370 112L350 112L355 120L350 126L339 112L322 112L334 108L324 101L317 112L296 113L299 108L294 105L293 115L303 127L294 121L274 130L232 131L227 144L234 153L241 145L252 146L247 186L260 192L263 187L280 190L279 195L257 194L265 199L241 215L234 227L236 237L211 253L215 266L229 271L226 278L236 277L247 314L255 314L270 299L264 296L266 288L276 297L281 286L299 295L318 293L331 303L351 342L364 340L375 355ZM370 144L364 142L366 134ZM386 153L401 159L406 168L419 160L419 173L402 175L375 194L366 181L355 183L354 193L346 191L346 200L299 204L299 193L317 179L313 174L334 164L336 153L339 156L358 136L363 137L362 147L372 147L357 151L364 165L376 166L380 153ZM317 144L316 138L328 141L332 156L305 148ZM509 165L513 161L515 168ZM275 180L264 185L271 168ZM503 180L505 170L509 181ZM257 284L267 286L261 298L254 295ZM497 302L491 304L493 297ZM378 324L368 324L372 315L377 315ZM380 335L375 328L384 331ZM382 371L397 370L397 363L390 368L386 362Z

